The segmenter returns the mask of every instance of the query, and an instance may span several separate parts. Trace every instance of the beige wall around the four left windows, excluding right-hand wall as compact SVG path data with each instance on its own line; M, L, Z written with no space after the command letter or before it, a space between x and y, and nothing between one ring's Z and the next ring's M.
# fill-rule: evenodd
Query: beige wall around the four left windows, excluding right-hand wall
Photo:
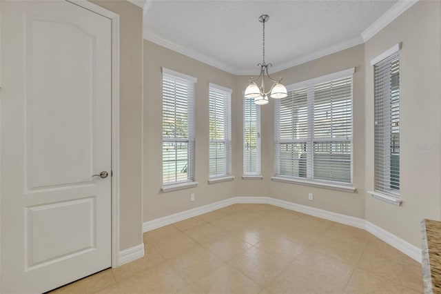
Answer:
M234 76L204 63L144 41L144 222L210 204L234 196L271 196L298 204L365 217L364 207L364 49L356 46L316 61L289 68L283 76L286 85L356 67L354 74L354 185L356 193L344 193L309 186L271 182L274 175L274 101L261 107L261 166L263 179L246 180L243 175L243 97L248 77ZM161 66L198 78L196 84L196 188L161 193ZM232 174L233 182L207 184L208 179L208 83L232 88ZM189 195L196 194L196 202ZM307 201L314 193L314 202Z

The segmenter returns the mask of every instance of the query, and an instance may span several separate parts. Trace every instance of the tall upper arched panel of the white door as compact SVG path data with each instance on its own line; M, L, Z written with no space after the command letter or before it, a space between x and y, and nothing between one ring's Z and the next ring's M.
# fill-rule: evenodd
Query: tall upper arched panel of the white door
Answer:
M90 182L96 38L70 23L25 20L29 188Z

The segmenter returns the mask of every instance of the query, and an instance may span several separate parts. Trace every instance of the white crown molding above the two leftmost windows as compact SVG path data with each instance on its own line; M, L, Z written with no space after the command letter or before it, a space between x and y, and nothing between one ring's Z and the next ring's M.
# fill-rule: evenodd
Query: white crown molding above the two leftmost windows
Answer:
M162 37L154 35L154 34L152 34L152 32L147 32L147 30L144 30L143 35L144 35L144 39L146 39L147 41L151 41L152 43L155 43L159 46L163 46L167 49L181 53L182 55L185 55L185 56L190 57L192 59L196 59L198 61L206 63L209 66L214 66L215 68L229 72L232 75L238 75L237 70L235 68L232 68L230 66L226 66L225 62L223 62L223 61L220 61L218 59L214 59L212 57L208 57L207 55L203 55L202 53L197 52L196 50L185 48L185 47L178 45L172 41L169 41L169 40L166 40Z

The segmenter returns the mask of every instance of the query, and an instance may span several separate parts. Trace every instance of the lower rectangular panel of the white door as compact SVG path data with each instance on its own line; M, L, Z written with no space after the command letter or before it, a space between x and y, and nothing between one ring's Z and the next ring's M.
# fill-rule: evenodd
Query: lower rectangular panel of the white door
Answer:
M95 248L94 202L89 197L25 208L25 270Z

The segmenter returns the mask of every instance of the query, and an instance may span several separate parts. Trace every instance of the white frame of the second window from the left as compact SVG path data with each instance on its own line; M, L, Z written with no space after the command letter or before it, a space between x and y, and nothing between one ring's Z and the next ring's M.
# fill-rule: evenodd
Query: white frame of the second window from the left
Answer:
M209 184L212 184L214 182L225 182L227 180L230 180L230 177L232 175L232 113L231 113L231 99L232 99L232 92L233 90L230 88L226 88L223 86L219 86L217 84L209 83L209 90L208 90L208 104L209 104L209 124L211 124L212 121L212 112L211 112L211 105L212 102L214 102L214 107L218 105L217 101L212 101L212 97L214 99L223 99L221 104L223 105L223 113L220 113L220 115L223 115L223 139L212 139L211 130L209 130ZM216 124L216 120L214 122ZM209 126L210 128L210 126ZM210 157L210 148L212 144L223 144L224 145L224 155L223 158L216 157L212 158ZM216 173L212 174L210 169L210 162L214 159L216 161L216 164L218 162L218 159L223 159L223 166L224 173ZM217 168L216 168L217 170ZM219 179L219 181L216 181L216 179Z

